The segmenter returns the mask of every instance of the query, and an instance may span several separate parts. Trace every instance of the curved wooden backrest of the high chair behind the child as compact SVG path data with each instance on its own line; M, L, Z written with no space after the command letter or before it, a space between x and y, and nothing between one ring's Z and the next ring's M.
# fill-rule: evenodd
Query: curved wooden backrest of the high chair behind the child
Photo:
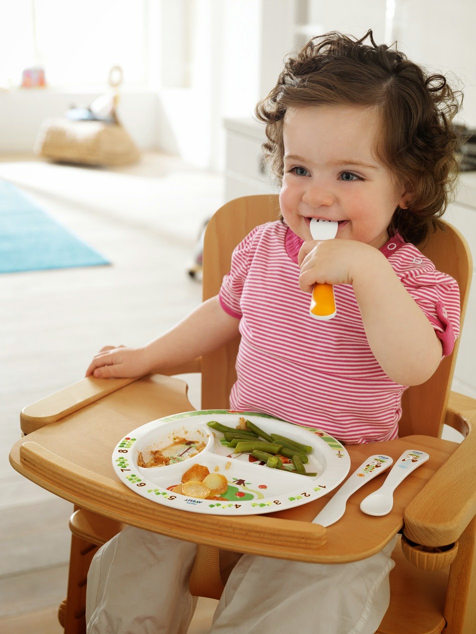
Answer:
M220 290L223 275L230 270L235 246L258 224L279 217L277 195L236 198L223 205L212 217L204 238L203 299ZM437 269L458 281L461 294L461 324L468 300L472 276L472 259L465 238L453 226L436 231L421 251ZM440 436L451 389L459 339L451 356L445 358L432 378L404 392L400 436L425 434ZM239 337L202 359L202 408L227 409L229 394L236 380L235 359ZM410 359L409 359L410 361Z

